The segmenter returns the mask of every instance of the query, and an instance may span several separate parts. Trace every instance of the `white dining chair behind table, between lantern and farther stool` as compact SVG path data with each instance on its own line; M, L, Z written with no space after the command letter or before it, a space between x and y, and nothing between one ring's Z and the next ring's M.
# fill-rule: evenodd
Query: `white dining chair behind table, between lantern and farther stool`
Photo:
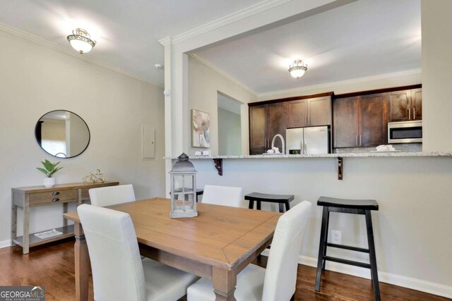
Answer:
M242 207L243 188L231 186L205 185L204 204Z

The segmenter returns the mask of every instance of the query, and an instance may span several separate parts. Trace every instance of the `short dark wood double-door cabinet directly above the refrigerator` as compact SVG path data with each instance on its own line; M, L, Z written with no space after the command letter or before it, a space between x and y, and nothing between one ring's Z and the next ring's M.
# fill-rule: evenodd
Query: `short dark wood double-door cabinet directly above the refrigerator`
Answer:
M287 102L287 128L331 125L331 96Z

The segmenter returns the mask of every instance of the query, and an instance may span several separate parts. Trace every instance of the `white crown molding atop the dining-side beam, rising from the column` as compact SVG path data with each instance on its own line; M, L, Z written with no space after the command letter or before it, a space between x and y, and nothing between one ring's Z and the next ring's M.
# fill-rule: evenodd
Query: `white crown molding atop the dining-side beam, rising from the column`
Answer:
M172 42L178 43L178 42L186 41L187 39L191 39L192 37L196 37L196 36L202 35L206 32L216 30L220 27L229 25L231 23L237 22L238 20L242 20L244 18L248 18L249 16L256 15L263 11L267 11L270 8L273 8L273 7L281 5L281 4L285 4L286 2L289 2L289 1L291 1L291 0L266 0L266 1L259 2L258 4L249 6L240 11L236 11L235 13L231 13L230 15L224 16L217 20L213 20L212 22L195 27L191 30L187 30L186 32L183 32L182 34L175 35L174 38L172 39Z

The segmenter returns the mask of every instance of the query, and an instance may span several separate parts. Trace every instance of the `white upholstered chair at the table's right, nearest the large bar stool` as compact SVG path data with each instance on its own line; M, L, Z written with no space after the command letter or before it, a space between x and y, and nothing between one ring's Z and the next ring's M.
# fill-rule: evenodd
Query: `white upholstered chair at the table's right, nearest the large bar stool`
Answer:
M302 239L311 211L302 202L278 220L268 255L267 269L249 264L237 275L234 296L237 301L288 301L295 293L297 267ZM201 278L187 290L188 301L215 300L212 282Z

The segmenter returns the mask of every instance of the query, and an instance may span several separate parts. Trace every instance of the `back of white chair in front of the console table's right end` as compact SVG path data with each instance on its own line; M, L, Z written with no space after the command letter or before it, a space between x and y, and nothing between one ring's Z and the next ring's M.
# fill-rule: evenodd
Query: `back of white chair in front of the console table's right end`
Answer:
M89 192L91 204L99 207L135 201L135 192L130 184L92 188Z

